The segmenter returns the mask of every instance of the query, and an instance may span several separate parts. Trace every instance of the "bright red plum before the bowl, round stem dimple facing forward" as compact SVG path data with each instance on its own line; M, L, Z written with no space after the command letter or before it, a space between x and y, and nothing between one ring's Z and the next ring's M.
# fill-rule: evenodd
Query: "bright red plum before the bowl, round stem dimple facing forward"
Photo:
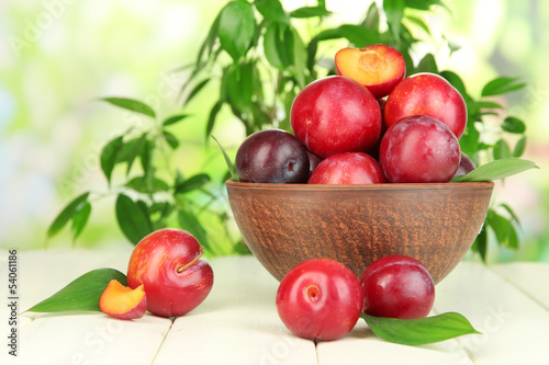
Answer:
M313 259L295 265L280 282L277 310L285 327L310 340L337 340L350 332L362 310L362 289L344 264Z

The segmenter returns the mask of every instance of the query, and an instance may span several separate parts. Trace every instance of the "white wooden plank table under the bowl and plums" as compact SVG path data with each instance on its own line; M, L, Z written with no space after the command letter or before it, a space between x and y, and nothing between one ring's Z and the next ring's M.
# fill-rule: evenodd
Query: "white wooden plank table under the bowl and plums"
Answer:
M131 249L19 252L19 310L93 269L125 273ZM0 250L0 364L549 364L549 264L460 263L437 285L434 313L458 311L483 334L405 346L378 339L362 320L338 341L296 338L278 318L278 282L255 258L210 262L214 287L187 316L122 321L94 312L23 313L13 357L8 252Z

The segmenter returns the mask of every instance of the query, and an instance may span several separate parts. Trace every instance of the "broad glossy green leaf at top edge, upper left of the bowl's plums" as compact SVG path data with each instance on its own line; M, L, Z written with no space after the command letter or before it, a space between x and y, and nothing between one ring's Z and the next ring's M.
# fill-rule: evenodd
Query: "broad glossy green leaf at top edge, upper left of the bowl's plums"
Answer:
M223 8L220 16L217 33L221 46L238 61L254 39L254 9L247 1L231 1Z

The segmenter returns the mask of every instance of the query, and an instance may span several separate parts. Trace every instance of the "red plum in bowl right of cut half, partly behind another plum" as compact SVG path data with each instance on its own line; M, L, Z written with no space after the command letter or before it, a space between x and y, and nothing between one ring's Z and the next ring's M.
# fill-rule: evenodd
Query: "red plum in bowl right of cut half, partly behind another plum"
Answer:
M435 73L416 73L405 78L389 94L384 109L386 126L414 114L439 119L458 139L466 130L467 106L463 96L446 79Z

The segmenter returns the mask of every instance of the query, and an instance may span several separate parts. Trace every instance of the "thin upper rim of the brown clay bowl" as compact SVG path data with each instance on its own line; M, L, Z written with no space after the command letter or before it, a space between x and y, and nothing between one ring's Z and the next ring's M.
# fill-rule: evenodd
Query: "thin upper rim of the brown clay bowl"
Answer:
M447 183L382 183L382 184L277 184L225 181L228 189L242 190L298 190L298 191L440 191L440 190L492 190L493 181L467 181Z

